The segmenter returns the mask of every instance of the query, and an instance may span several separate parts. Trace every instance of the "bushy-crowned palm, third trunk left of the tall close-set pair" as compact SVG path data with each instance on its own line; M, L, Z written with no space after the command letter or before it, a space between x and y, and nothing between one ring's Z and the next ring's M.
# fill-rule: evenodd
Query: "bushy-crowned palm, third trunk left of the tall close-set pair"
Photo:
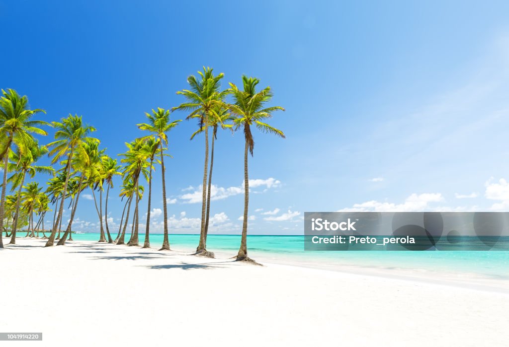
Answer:
M144 176L148 180L148 170L147 170L147 159L149 157L149 153L147 150L144 150L145 142L143 139L136 139L131 143L126 143L128 150L120 154L124 156L120 162L124 163L126 166L122 172L123 176L129 176L131 180L134 182L136 190L139 188L139 176L140 174L144 174ZM137 246L138 245L138 204L139 204L139 194L136 195L136 203L134 205L134 215L133 215L133 226L134 232L131 234L131 238L127 243L129 246Z

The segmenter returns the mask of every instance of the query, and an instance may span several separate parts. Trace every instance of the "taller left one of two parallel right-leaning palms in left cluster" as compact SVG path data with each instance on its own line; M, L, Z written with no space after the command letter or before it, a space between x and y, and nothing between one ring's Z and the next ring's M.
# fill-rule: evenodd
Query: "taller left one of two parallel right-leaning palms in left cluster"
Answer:
M61 157L67 155L67 162L65 167L66 180L63 187L63 192L66 192L74 151L81 145L81 143L83 143L83 141L86 141L87 139L91 139L97 143L99 143L99 140L88 137L90 133L95 131L95 128L91 127L90 125L83 124L81 116L73 116L72 114L69 114L67 118L62 118L62 122L52 122L52 124L53 127L57 129L55 133L56 141L49 143L47 146L53 148L49 152L49 155L54 155L51 161L52 164L56 163ZM62 201L60 203L58 215L56 216L55 224L53 225L51 235L49 236L45 247L53 245L56 229L60 224L62 213L64 212L65 193L62 194L61 200Z

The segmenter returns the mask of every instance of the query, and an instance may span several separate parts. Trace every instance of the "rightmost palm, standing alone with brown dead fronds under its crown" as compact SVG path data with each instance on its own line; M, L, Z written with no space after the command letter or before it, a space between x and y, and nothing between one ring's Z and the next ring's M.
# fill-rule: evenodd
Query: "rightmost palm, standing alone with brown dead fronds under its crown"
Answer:
M251 125L265 133L271 133L281 138L285 138L282 131L271 127L271 125L262 122L262 120L271 118L272 112L276 110L284 111L280 106L265 107L266 103L272 99L270 87L257 92L256 86L260 80L258 78L242 76L244 90L239 90L237 86L230 83L233 95L233 104L229 105L230 110L236 116L234 119L235 129L242 128L244 131L244 219L242 223L242 238L240 242L237 260L251 261L247 257L247 209L249 203L249 180L247 174L247 153L253 155L254 140L251 134Z

